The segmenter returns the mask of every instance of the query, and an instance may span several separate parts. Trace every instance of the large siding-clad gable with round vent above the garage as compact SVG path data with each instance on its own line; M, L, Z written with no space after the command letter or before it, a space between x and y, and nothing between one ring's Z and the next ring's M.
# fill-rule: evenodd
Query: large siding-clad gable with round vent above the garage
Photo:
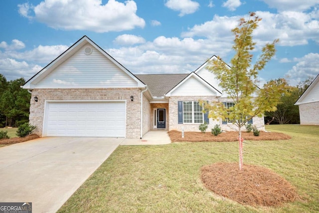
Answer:
M145 87L129 70L83 36L24 85L32 88Z

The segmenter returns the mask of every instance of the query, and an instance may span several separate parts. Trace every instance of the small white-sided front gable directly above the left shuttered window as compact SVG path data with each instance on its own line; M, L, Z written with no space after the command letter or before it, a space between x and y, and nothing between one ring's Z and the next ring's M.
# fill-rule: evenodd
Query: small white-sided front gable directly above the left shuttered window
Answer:
M216 92L213 92L194 76L188 78L178 88L176 88L171 96L216 96Z

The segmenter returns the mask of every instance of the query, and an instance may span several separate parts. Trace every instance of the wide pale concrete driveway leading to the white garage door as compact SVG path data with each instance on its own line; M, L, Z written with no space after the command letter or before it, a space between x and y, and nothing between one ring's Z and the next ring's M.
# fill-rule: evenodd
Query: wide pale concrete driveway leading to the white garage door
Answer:
M124 138L39 138L0 148L0 202L55 213Z

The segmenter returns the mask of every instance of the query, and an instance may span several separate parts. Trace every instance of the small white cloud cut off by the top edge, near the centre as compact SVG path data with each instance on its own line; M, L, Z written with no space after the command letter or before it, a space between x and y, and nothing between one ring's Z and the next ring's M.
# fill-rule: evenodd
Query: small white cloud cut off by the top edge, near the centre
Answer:
M165 6L179 11L179 16L194 13L199 8L199 3L192 0L167 0Z

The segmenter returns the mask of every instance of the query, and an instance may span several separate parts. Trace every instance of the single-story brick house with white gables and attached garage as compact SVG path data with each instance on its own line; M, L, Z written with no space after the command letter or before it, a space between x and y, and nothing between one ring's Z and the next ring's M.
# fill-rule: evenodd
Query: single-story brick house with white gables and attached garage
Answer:
M232 104L205 68L208 61L190 74L134 75L83 36L23 85L32 94L30 123L43 137L142 138L150 130L199 131L204 121L209 129L231 130L227 121L208 119L198 103ZM263 117L252 122L264 128Z

